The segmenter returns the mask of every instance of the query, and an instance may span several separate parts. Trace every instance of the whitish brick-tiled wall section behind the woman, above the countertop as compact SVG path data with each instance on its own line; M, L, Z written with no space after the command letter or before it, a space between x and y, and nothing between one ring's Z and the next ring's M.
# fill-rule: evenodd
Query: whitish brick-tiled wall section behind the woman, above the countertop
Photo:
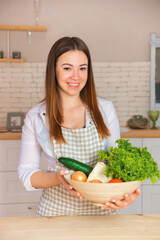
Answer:
M45 63L0 63L0 127L7 112L26 112L44 98ZM113 102L120 125L134 114L148 116L149 62L93 63L99 97Z

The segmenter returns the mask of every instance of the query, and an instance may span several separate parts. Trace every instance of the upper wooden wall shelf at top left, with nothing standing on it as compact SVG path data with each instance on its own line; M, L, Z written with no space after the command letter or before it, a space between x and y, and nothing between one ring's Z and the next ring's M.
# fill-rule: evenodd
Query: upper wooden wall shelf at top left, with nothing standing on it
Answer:
M0 25L1 31L28 31L31 32L46 32L46 26L28 26L28 25Z

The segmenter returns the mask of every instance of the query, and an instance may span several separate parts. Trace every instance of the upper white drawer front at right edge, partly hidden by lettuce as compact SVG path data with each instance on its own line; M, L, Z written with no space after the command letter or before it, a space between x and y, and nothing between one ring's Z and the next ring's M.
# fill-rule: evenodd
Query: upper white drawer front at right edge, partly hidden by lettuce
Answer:
M153 159L158 163L160 169L160 138L143 138L143 147L147 147ZM160 184L160 181L157 181ZM146 180L144 184L152 184L150 180Z

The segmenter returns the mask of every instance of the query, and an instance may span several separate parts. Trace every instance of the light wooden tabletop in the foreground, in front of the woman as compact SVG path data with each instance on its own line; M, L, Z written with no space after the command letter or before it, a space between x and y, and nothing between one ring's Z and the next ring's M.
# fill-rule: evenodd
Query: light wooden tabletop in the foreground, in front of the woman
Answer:
M1 240L155 240L160 214L0 218Z

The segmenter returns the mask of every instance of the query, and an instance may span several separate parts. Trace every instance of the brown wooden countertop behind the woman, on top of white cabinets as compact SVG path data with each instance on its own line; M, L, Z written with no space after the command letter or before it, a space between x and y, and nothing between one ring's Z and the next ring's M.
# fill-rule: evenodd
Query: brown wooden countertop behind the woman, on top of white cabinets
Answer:
M129 132L121 133L121 138L160 138L160 128L153 129L129 129ZM0 140L20 140L21 133L0 133Z

